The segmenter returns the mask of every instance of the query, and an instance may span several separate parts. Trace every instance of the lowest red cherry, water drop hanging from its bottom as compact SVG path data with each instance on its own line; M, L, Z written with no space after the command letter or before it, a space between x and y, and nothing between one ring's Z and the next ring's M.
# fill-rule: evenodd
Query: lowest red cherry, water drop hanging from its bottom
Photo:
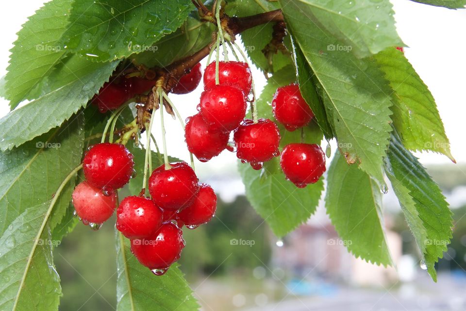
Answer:
M149 269L166 269L180 259L184 247L183 231L166 222L145 239L131 240L131 252Z

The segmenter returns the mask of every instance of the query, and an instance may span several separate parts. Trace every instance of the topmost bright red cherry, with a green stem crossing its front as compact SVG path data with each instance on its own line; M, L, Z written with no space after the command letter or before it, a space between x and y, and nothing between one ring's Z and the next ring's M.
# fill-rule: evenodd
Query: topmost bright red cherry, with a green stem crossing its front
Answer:
M215 64L210 63L204 71L204 89L215 86ZM229 85L239 88L247 96L251 90L252 75L247 63L222 62L218 63L218 81L220 85Z

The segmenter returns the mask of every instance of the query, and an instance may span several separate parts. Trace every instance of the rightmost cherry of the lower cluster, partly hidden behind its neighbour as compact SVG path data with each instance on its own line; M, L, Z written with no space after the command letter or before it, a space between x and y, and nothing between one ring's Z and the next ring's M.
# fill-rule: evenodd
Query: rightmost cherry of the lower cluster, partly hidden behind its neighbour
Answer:
M178 219L190 229L207 223L215 215L217 196L207 184L200 185L198 195L190 206L178 213ZM177 221L178 221L177 219Z

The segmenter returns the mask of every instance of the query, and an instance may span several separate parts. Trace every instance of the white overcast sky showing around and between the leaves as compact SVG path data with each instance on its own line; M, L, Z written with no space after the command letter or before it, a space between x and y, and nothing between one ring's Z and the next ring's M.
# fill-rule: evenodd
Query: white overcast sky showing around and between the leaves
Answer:
M17 0L0 2L0 75L6 73L8 50L16 40L20 26L36 9L42 6L40 0ZM397 28L402 40L409 46L406 56L424 82L429 86L437 102L446 132L451 142L453 156L458 162L466 162L465 116L466 116L466 10L448 10L415 3L409 0L393 0ZM203 63L205 68L205 61ZM253 70L254 82L260 92L265 79ZM170 95L171 96L171 95ZM200 88L189 95L173 96L183 118L195 114L199 104ZM0 116L8 112L7 101L0 98ZM183 131L178 121L166 118L169 133L167 149L170 155L188 159L184 145ZM154 130L156 137L159 131ZM325 149L326 142L322 143ZM333 150L335 144L333 143ZM448 163L441 155L419 154L423 163ZM200 164L201 171L232 172L236 157L228 152L216 159Z

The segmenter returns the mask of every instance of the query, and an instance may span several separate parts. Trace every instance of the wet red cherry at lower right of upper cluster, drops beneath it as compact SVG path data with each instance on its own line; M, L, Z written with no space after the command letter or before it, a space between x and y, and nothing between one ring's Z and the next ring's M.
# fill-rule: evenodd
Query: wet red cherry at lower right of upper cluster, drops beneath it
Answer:
M280 154L280 132L269 119L259 119L257 123L247 119L233 135L236 156L243 163L250 162L254 170L262 168L262 162Z

